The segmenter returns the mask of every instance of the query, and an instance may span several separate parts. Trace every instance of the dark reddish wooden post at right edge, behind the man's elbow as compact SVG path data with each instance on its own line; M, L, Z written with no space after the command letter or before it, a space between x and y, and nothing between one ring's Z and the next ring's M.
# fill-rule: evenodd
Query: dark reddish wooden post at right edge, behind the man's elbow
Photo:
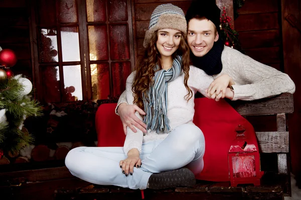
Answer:
M301 84L299 75L301 73L301 33L296 26L289 23L286 18L291 15L296 19L296 23L301 22L301 4L299 0L281 0L281 20L282 20L282 47L284 73L287 73L293 80L296 87ZM301 97L301 90L296 89L294 96L294 111L289 115L288 129L290 139L291 169L296 178L301 177L301 153L299 134L301 129L300 119L301 105L298 101Z

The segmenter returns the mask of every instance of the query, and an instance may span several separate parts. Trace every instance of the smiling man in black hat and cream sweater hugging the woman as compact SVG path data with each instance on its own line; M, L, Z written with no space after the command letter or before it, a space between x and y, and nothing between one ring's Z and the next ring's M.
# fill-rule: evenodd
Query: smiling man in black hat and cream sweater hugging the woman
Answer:
M213 1L207 2L193 2L186 14L191 61L215 79L207 89L207 97L219 101L227 92L226 97L232 100L251 101L283 92L293 93L295 85L287 74L224 46L219 37L220 9L211 3ZM229 80L231 86L228 85ZM232 94L230 97L229 92ZM134 115L136 111L145 115L137 106L127 105L123 92L116 114L120 115L125 134L127 126L134 132L133 126L146 132L145 124Z

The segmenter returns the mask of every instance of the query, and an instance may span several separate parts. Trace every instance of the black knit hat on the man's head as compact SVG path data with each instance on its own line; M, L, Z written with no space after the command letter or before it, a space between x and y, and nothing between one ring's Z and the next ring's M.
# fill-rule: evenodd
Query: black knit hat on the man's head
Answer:
M213 22L217 31L220 31L221 10L216 6L215 0L197 0L193 1L186 13L187 24L193 18L202 18Z

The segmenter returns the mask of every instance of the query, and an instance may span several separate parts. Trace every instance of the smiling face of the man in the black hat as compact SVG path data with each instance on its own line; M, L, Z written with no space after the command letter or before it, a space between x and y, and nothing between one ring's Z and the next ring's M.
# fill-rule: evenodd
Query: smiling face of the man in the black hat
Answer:
M218 37L215 25L210 20L193 18L189 21L187 42L195 56L206 55Z

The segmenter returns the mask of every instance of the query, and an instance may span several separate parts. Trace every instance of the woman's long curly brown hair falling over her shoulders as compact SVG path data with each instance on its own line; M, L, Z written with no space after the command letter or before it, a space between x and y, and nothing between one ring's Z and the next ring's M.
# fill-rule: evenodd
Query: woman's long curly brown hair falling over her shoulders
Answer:
M135 66L136 74L134 77L134 81L132 84L132 91L134 93L134 104L136 103L137 106L144 110L142 94L148 97L146 91L149 89L150 84L154 84L154 76L155 76L155 66L159 65L160 69L162 69L162 61L161 55L156 47L156 42L158 40L158 31L154 32L152 39L148 43L146 50L144 51L144 55L140 57ZM189 78L189 62L190 62L190 50L186 43L186 36L182 33L180 45L177 51L172 55L173 59L176 55L182 56L182 70L185 74L184 76L184 85L188 91L185 95L185 99L189 101L192 98L192 90L188 86L188 78Z

